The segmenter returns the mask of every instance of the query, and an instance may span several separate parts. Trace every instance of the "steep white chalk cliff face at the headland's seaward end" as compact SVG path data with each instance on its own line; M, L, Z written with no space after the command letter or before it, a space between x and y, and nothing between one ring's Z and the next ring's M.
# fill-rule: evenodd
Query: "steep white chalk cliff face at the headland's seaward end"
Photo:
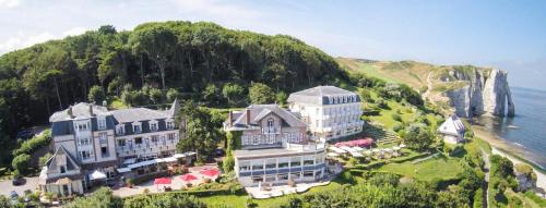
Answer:
M453 69L440 81L452 87L444 91L459 117L513 117L514 105L506 71L495 69Z

